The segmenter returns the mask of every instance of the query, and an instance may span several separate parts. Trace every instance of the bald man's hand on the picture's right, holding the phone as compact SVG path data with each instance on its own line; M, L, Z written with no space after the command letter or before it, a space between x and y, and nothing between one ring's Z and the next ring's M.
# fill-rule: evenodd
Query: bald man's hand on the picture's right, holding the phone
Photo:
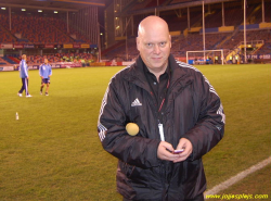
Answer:
M176 154L178 155L178 159L173 160L175 163L186 160L193 151L193 146L186 138L181 138L179 145L177 146L177 150L181 149L184 149L184 151L182 153Z

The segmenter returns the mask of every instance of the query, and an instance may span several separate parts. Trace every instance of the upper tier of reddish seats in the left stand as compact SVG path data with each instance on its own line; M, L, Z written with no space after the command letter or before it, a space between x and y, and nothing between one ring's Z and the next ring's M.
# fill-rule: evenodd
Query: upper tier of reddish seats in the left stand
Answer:
M17 43L76 43L89 42L86 36L79 34L70 27L67 33L67 25L61 18L44 17L38 14L12 14L12 30L9 33L9 24L7 14L0 14L0 34L1 42ZM27 22L27 23L26 23ZM18 35L21 37L16 37ZM76 39L70 35L76 35Z

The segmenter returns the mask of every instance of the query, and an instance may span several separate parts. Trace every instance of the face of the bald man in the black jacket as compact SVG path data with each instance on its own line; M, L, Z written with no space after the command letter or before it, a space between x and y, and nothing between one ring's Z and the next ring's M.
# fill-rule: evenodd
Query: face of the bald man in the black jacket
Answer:
M137 38L137 47L150 71L157 72L167 67L171 48L171 38L167 30L146 28Z

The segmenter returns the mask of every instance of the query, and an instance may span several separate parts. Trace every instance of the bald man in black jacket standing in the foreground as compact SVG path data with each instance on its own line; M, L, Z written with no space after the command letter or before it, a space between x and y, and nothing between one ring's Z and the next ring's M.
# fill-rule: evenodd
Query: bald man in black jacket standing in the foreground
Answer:
M118 159L117 190L125 201L203 201L202 156L221 139L225 116L214 87L195 67L170 54L167 23L144 18L136 63L112 77L98 131ZM128 123L139 133L131 136Z

